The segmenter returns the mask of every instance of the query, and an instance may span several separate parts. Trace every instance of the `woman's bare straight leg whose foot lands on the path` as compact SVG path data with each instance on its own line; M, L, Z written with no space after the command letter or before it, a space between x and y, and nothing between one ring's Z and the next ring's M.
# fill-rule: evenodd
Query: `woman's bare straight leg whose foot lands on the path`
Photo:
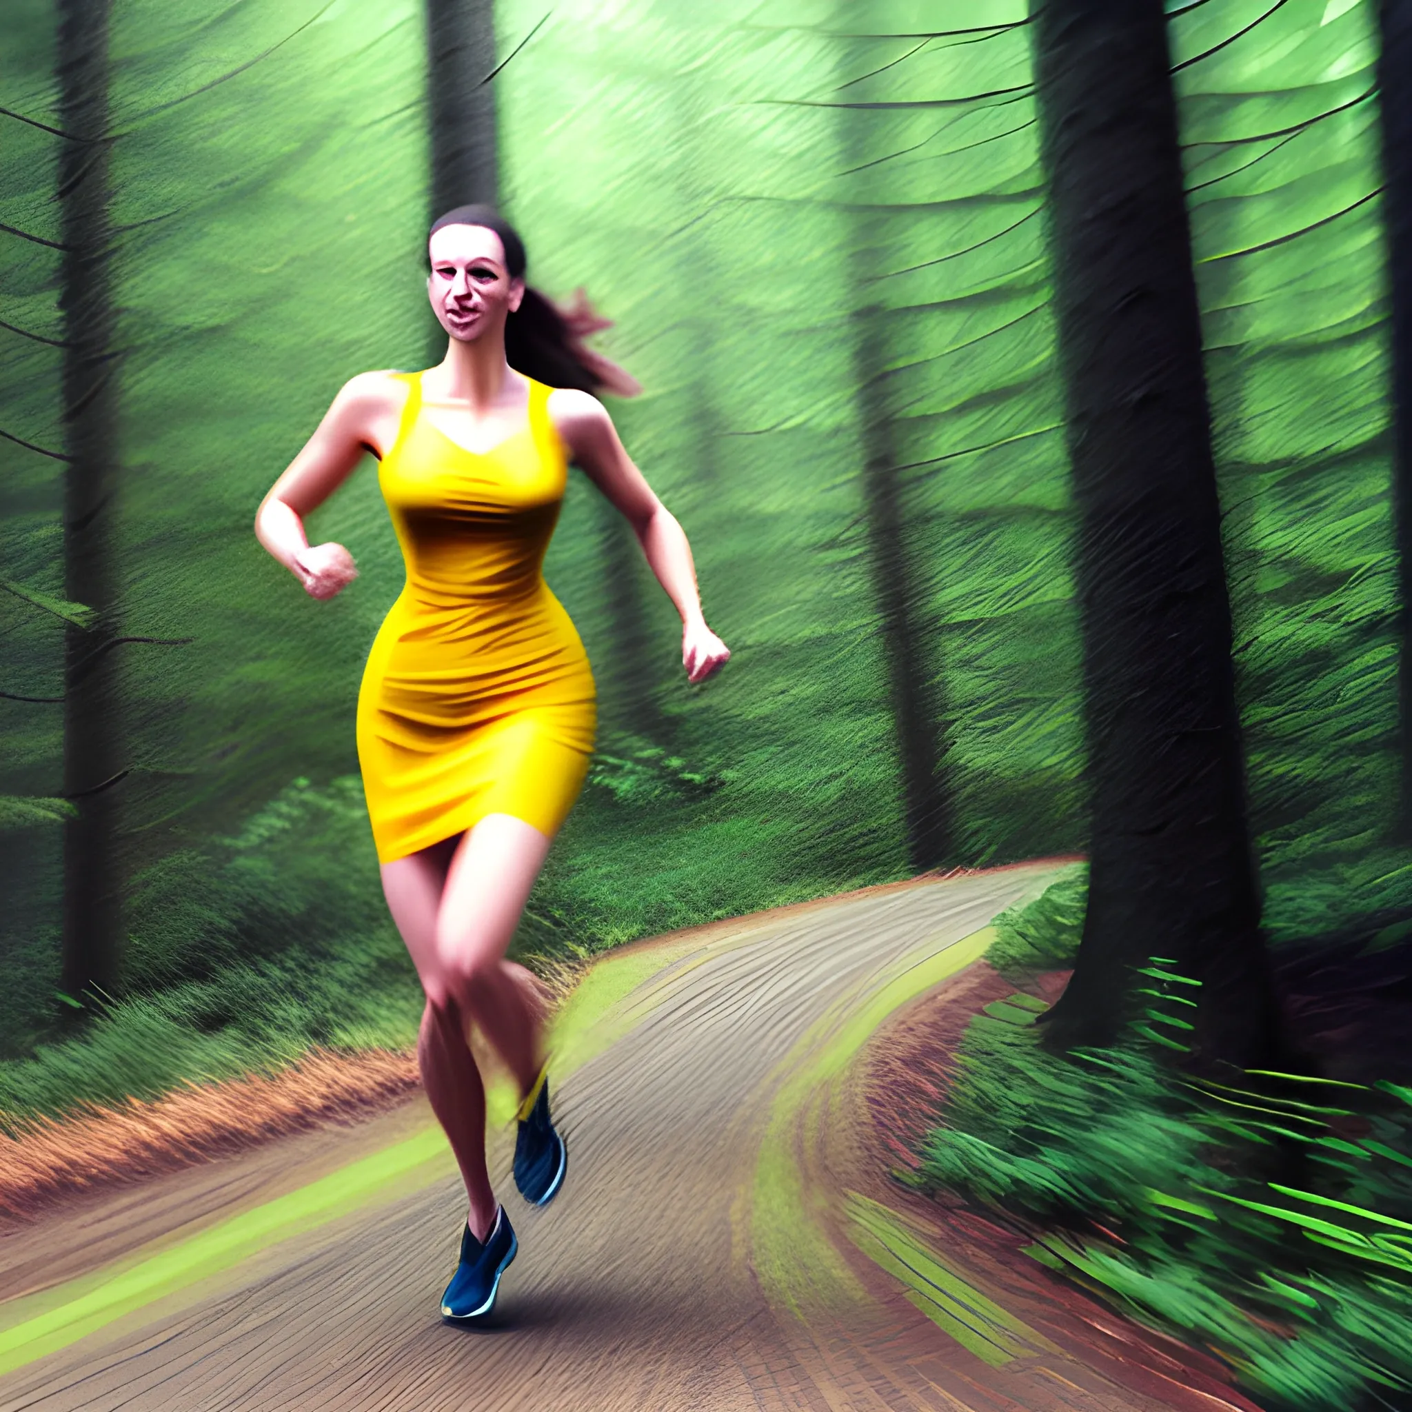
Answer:
M436 915L455 842L448 839L421 853L384 863L383 891L426 993L417 1041L422 1087L466 1183L470 1233L484 1240L494 1223L497 1204L486 1171L486 1090L466 1043L466 1021L436 956Z

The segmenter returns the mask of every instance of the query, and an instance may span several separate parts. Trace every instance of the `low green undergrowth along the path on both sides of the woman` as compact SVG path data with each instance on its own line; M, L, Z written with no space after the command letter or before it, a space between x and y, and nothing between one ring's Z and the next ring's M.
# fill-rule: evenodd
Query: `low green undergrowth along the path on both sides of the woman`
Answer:
M531 969L552 966L853 885L801 867L782 887L750 847L755 823L716 805L727 781L609 736L511 955ZM678 825L690 818L692 849L644 826L664 810ZM594 846L576 847L586 834ZM738 868L709 884L699 849L734 853ZM136 880L128 919L120 997L52 991L48 1008L59 1021L27 1034L0 994L0 1131L40 1114L155 1099L186 1082L268 1072L315 1045L415 1042L421 988L387 914L356 777L295 779L237 834L167 854Z

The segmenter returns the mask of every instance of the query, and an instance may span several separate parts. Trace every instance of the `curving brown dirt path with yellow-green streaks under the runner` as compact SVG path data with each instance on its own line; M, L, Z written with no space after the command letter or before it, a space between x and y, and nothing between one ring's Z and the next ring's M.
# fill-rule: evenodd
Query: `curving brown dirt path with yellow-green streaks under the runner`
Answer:
M504 1183L521 1252L493 1329L436 1316L459 1221L436 1137L400 1130L298 1185L299 1161L323 1171L309 1134L282 1149L304 1156L281 1195L182 1244L124 1247L144 1210L127 1193L127 1217L103 1217L127 1254L40 1288L45 1245L72 1262L85 1228L69 1216L28 1231L30 1293L0 1305L0 1409L1248 1406L1142 1360L1130 1375L1111 1316L1118 1334L1089 1358L1072 1310L1045 1323L1038 1286L1003 1288L1004 1252L971 1261L874 1179L853 1082L868 1038L1043 880L1003 870L624 957L623 994L566 1053L562 1195L527 1211ZM405 1130L415 1113L380 1121ZM178 1175L167 1202L205 1182L195 1206L213 1219L210 1183L249 1199L240 1173L271 1158L250 1162Z

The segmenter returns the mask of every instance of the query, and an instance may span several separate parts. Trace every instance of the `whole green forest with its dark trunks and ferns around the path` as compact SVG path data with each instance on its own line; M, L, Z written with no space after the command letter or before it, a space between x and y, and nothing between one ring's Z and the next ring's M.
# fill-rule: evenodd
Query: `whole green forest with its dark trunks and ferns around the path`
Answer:
M470 69L428 76L438 25ZM251 521L347 377L439 356L428 220L494 199L531 280L614 321L644 385L614 419L733 651L685 685L576 477L546 572L600 734L517 953L1086 857L995 959L1073 967L1063 1000L969 1036L923 1178L1128 1221L1048 1258L1272 1406L1406 1405L1412 4L11 0L6 30L10 1132L411 1043L353 743L402 575L371 459L311 528L359 561L337 600ZM1062 1051L1110 1055L1101 1099ZM1213 1137L1197 1090L1241 1070L1285 1135ZM1291 1155L1329 1083L1341 1127ZM1165 1144L1111 1192L1106 1103ZM1240 1195L1286 1161L1346 1223L1312 1274ZM1203 1183L1244 1224L1211 1234ZM1217 1305L1262 1278L1317 1336L1240 1343Z

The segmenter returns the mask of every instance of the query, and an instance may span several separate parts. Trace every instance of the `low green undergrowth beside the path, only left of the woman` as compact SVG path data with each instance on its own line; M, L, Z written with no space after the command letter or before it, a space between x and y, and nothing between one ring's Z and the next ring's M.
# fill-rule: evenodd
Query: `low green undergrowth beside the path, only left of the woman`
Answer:
M297 779L236 836L165 854L133 888L126 994L89 998L78 1035L11 1049L0 1115L150 1099L311 1045L412 1043L421 988L370 854L354 778Z

